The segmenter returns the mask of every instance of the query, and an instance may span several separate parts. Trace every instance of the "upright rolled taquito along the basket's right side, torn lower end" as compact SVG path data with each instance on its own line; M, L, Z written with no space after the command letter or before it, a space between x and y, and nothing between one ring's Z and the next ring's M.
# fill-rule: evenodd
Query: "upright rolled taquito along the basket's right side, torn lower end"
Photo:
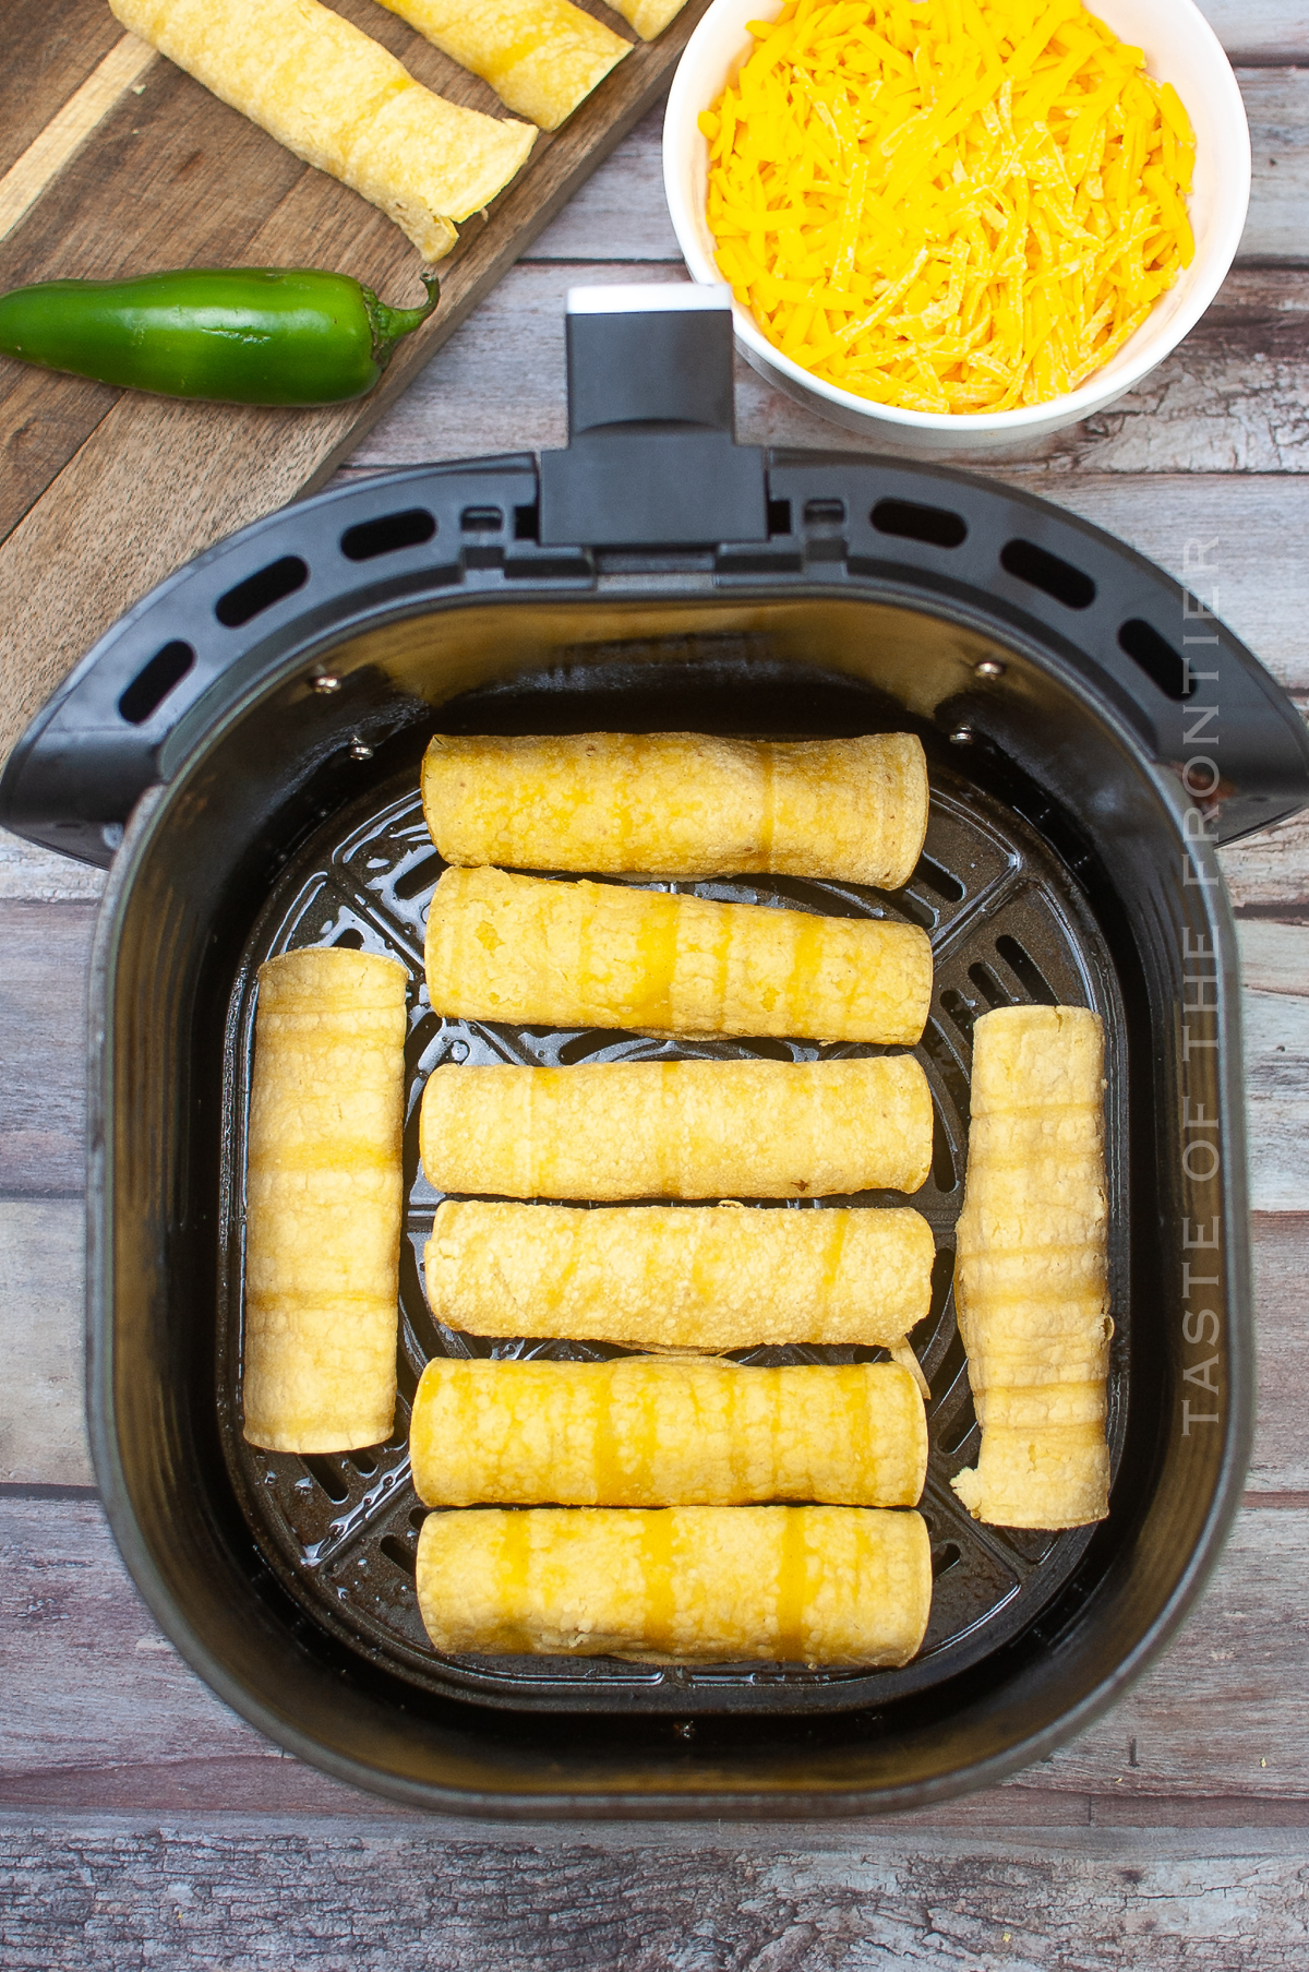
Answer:
M1108 1513L1102 1071L1086 1008L998 1008L974 1027L954 1300L982 1451L952 1483L999 1526Z

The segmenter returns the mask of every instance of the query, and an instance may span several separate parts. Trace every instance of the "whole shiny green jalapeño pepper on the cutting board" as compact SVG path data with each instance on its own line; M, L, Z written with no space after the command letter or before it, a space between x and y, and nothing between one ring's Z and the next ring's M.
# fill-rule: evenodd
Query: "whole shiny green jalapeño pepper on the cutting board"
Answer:
M0 355L128 390L229 404L363 396L438 304L386 308L349 274L183 268L138 280L45 280L0 296Z

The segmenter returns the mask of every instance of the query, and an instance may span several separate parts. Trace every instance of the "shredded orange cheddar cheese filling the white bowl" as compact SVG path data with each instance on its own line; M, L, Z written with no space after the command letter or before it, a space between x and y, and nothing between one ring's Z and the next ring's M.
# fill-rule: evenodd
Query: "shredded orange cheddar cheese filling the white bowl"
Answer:
M856 396L1076 390L1193 256L1171 83L1078 0L791 0L704 110L718 266Z

